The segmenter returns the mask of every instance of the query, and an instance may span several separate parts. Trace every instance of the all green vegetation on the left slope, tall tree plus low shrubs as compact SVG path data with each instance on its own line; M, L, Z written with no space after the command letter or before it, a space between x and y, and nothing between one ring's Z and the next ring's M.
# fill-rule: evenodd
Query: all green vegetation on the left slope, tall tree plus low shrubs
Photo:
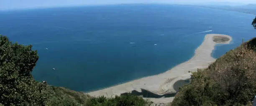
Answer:
M32 45L12 43L0 35L0 106L146 106L139 96L91 97L33 79L38 54Z

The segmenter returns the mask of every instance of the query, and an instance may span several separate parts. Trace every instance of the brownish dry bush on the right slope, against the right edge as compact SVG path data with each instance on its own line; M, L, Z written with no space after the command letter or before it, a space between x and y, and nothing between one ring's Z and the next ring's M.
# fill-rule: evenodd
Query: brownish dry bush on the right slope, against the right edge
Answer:
M256 95L256 52L243 46L234 54L233 62L217 62L209 70L227 100L247 104Z

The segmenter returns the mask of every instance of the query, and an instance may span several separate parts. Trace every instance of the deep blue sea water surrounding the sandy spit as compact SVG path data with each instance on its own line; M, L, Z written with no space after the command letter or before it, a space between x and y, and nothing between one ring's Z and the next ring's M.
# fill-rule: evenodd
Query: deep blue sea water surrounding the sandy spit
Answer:
M218 58L255 37L254 17L186 5L15 10L0 12L0 34L38 50L36 80L87 92L163 73L189 60L209 33L233 37L215 47Z

